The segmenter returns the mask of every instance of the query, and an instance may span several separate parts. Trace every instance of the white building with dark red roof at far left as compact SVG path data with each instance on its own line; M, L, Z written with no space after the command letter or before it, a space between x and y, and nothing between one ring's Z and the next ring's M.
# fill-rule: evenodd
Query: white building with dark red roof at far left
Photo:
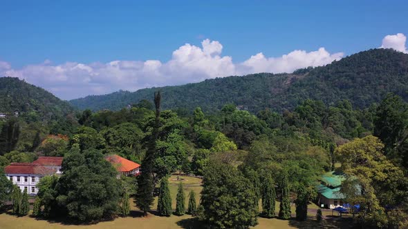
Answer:
M61 174L62 159L63 157L39 157L33 163L11 163L4 168L4 172L12 183L19 186L21 192L27 190L28 195L37 195L36 185L41 177Z

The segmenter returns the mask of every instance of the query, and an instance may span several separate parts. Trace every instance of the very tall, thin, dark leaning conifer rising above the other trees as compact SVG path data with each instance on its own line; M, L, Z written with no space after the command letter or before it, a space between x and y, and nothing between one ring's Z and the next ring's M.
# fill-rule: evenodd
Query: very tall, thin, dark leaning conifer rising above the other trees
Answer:
M154 201L153 165L160 125L160 92L154 93L154 105L156 106L156 121L149 137L145 158L143 158L142 166L140 166L142 172L138 176L138 192L136 192L136 206L143 211L144 215L147 215L147 211L150 210L150 206Z

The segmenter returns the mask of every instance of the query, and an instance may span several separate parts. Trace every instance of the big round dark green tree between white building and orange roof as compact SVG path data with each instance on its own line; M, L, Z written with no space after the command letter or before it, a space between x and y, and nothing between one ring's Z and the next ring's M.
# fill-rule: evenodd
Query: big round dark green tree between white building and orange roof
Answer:
M62 176L58 180L59 206L68 217L93 221L113 217L118 212L120 181L118 172L98 150L69 152L62 161Z

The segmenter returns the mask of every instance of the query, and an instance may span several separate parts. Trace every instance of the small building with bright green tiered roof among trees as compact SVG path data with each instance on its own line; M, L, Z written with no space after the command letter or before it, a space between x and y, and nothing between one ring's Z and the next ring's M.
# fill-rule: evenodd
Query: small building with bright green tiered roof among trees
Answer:
M346 177L342 172L326 172L317 186L318 203L322 208L337 208L343 206L344 195L340 192L342 181Z

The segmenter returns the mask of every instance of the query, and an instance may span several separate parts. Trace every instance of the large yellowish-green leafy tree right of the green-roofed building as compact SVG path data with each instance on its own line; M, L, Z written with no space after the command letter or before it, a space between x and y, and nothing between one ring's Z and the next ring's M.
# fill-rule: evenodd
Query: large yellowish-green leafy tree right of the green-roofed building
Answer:
M364 226L386 227L385 206L408 206L407 176L384 156L380 139L371 135L355 139L335 153L348 175L341 191L351 203L360 203L358 219Z

